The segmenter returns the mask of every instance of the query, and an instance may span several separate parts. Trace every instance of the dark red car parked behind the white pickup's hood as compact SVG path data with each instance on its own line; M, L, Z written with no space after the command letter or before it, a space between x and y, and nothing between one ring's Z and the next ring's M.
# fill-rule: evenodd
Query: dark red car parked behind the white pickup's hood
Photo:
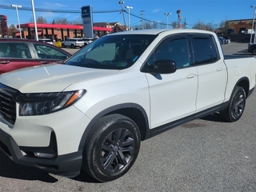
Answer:
M58 62L70 56L65 50L46 42L0 38L0 74L28 66Z

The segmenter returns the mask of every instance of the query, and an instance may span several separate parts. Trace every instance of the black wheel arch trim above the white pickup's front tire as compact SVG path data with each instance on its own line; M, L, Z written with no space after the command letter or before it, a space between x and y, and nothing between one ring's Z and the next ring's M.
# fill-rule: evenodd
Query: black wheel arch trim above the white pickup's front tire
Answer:
M125 115L127 118L132 119L137 124L138 129L140 130L142 141L146 138L150 138L149 121L146 111L143 109L143 107L135 103L123 103L102 110L100 113L95 115L94 118L91 119L88 126L86 126L86 130L82 134L78 150L83 150L84 146L86 145L87 138L90 136L91 131L93 131L92 128L98 119L108 114Z

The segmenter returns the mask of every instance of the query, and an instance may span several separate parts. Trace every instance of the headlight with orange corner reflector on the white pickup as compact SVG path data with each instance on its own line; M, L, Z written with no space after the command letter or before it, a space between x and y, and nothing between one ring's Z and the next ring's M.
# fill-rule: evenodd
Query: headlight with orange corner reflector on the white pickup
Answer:
M20 94L16 98L19 115L51 114L63 110L77 102L86 90L74 90L60 93Z

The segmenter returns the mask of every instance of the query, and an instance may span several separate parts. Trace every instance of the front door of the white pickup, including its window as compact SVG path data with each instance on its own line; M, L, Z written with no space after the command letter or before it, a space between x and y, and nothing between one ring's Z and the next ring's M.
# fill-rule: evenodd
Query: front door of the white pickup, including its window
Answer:
M164 125L195 112L198 91L197 70L190 66L190 47L186 34L175 35L162 42L147 61L172 60L177 70L173 74L146 74L150 85L151 127Z

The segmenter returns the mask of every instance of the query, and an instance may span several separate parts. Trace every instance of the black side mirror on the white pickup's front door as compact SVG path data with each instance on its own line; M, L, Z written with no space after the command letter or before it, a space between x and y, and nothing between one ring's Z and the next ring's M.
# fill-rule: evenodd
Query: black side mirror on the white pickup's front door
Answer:
M150 74L173 74L177 70L176 64L172 60L160 59L152 66L145 66L142 72Z

